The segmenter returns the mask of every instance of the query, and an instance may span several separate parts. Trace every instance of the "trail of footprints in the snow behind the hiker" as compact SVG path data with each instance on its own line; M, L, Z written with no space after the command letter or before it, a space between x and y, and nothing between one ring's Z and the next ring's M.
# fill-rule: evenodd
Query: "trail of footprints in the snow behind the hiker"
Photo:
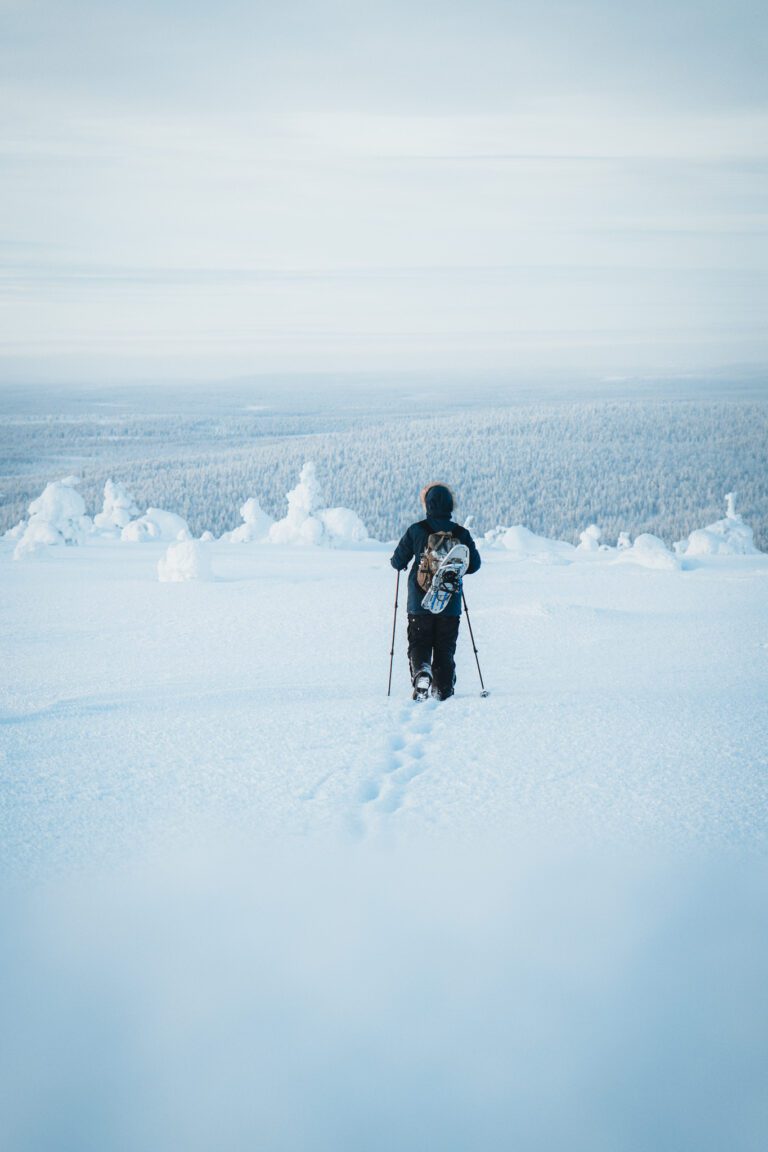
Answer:
M402 808L409 783L424 772L438 706L436 700L425 700L400 708L381 766L360 787L359 799L367 811L388 816Z

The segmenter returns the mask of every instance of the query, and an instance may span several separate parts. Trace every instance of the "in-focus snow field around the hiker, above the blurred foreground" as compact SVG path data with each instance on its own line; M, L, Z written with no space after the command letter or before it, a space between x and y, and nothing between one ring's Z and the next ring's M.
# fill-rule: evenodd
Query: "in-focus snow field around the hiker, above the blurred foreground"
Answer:
M416 712L403 597L386 698L386 552L195 546L214 581L158 583L157 544L2 563L5 755L23 766L3 851L22 871L196 811L277 834L765 840L766 558L486 553L466 593L492 696L463 622L457 696Z

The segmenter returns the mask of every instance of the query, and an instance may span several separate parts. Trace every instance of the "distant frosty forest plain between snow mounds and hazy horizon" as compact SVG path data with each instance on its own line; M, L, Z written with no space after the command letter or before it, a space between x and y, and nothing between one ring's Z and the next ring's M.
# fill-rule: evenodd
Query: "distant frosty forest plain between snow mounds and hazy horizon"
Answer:
M456 407L428 415L364 406L315 411L0 417L0 531L48 480L82 476L89 511L104 483L140 507L219 536L258 497L273 516L305 460L329 506L353 508L372 536L396 538L419 515L418 492L446 480L476 533L525 524L577 541L590 523L654 532L667 544L724 513L724 495L768 551L768 406L744 401L599 400Z

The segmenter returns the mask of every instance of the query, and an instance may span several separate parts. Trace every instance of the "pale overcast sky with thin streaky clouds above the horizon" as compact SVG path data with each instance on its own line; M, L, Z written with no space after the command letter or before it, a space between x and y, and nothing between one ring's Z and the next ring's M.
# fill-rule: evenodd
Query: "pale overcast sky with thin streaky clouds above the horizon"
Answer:
M751 0L0 0L0 379L768 364Z

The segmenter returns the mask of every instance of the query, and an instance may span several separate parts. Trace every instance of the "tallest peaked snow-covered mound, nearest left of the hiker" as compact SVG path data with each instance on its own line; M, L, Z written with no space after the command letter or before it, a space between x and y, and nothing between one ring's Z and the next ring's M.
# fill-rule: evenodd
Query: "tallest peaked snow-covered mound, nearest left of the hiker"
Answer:
M368 544L367 529L351 508L322 508L322 492L311 461L302 468L298 484L288 493L288 514L272 524L271 544L320 545L355 548Z

